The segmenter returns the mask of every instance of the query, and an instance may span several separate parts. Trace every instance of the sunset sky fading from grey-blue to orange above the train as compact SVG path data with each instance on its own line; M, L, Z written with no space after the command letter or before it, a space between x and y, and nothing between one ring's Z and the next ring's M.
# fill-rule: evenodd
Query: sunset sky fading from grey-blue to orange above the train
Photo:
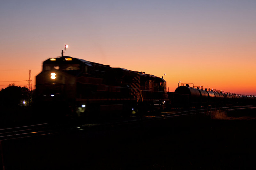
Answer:
M2 0L0 88L64 55L256 95L255 0ZM12 81L12 82L11 82ZM16 82L14 82L16 81ZM28 86L28 85L27 85Z

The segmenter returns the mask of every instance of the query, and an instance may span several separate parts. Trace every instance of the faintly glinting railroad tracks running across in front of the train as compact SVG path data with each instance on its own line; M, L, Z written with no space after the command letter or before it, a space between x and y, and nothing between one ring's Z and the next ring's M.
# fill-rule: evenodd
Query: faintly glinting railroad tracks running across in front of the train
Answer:
M66 131L82 131L88 129L88 127L109 127L109 126L118 126L122 124L133 124L138 123L139 121L154 121L159 119L174 118L179 116L188 116L195 114L205 114L209 112L225 110L225 111L234 111L234 110L248 110L256 109L256 105L248 106L232 106L232 107L221 107L213 109L199 109L199 110L186 110L186 111L172 111L172 112L163 112L161 115L152 115L152 116L141 116L140 118L132 118L130 120L124 121L115 121L115 122L106 122L100 124L77 124L77 125L62 125L62 126L52 126L47 123L44 124L34 124L28 126L12 127L0 129L0 141L17 139L17 138L27 138L40 135L49 135Z

